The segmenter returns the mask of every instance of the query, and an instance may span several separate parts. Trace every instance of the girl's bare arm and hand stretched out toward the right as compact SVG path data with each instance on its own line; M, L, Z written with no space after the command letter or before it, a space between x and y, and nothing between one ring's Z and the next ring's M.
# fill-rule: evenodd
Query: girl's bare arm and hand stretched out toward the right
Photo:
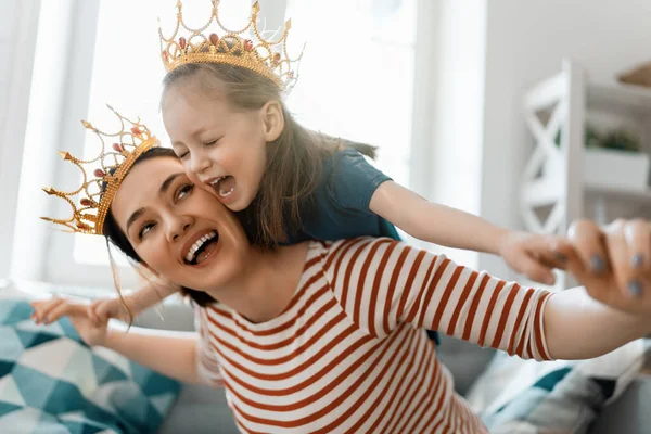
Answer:
M429 202L393 181L381 183L371 197L370 209L419 240L455 248L500 255L515 271L551 284L550 266L540 255L549 254L547 235L514 232L445 205Z

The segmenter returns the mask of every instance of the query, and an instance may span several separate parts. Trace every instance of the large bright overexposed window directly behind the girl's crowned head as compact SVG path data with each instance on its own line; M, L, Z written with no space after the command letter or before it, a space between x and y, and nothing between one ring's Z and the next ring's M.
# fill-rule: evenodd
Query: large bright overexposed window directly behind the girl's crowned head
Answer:
M77 97L84 100L78 106L88 110L67 111L68 118L63 119L76 128L69 131L81 129L79 117L103 130L117 127L105 107L108 103L126 117L139 116L164 144L167 142L158 113L164 69L155 18L161 17L164 29L173 28L175 4L176 0L110 0L101 1L92 13L73 14L77 28L74 40L94 39L94 50L88 58L69 62L68 76L90 82L88 92ZM268 14L260 16L269 28L272 22L282 24L273 16L292 17L290 52L299 52L302 43L307 42L298 85L288 99L297 119L309 128L379 146L378 166L407 186L416 0L261 0L260 4L261 14ZM250 5L242 0L221 0L225 25L238 27L245 22ZM187 23L203 24L210 7L208 0L186 1ZM279 9L285 7L286 13L280 13ZM97 140L94 135L86 135L85 155L97 149ZM72 257L62 257L65 248L56 245L49 254L52 264L74 261L84 267L87 272L80 271L75 278L80 283L86 279L80 275L105 269L108 264L103 238L74 235L74 243L69 243ZM111 273L99 273L108 284Z

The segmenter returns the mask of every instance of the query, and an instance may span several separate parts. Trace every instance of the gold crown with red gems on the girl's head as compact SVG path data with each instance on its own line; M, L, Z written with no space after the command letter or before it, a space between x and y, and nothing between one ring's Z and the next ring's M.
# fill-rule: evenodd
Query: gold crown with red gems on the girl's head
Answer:
M267 40L258 31L260 7L257 1L251 8L248 23L240 30L226 28L219 21L219 0L212 2L210 17L201 28L193 29L186 25L180 1L177 2L177 24L169 38L163 36L158 23L165 69L170 72L186 63L225 63L248 68L272 80L281 90L289 91L298 78L297 69L293 66L297 67L303 55L292 60L288 54L291 20L285 22L279 38Z

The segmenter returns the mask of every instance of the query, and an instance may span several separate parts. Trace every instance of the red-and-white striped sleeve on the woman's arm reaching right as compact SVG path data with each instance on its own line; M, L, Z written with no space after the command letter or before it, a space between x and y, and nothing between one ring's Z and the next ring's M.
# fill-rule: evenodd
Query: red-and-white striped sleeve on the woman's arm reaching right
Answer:
M326 272L340 303L373 336L407 322L522 358L550 359L544 327L548 291L388 239L342 241L329 257Z

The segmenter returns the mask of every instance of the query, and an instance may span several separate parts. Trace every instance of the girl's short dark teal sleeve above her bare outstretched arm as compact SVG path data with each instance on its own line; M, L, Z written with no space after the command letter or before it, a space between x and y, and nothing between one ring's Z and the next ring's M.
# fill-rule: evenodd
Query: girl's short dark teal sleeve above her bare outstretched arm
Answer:
M369 212L373 193L391 178L373 167L358 151L345 149L332 161L331 194L344 209Z

